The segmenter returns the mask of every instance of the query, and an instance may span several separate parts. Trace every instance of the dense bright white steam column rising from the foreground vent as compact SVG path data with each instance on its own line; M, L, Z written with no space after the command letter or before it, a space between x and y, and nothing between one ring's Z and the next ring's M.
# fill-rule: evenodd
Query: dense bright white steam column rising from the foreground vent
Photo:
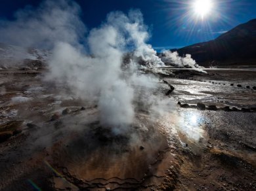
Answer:
M93 56L82 54L84 50L79 45L55 44L47 78L68 84L81 99L96 103L102 125L124 128L134 121L134 97L139 94L135 86L158 87L156 77L138 72L137 61L142 59L150 67L164 65L156 51L145 43L147 39L148 33L139 10L131 10L128 15L112 12L106 22L92 29L87 37L87 54ZM135 51L125 69L129 75L124 75L121 69L123 56L131 51L131 47ZM149 92L145 94L140 105L150 105L151 95Z

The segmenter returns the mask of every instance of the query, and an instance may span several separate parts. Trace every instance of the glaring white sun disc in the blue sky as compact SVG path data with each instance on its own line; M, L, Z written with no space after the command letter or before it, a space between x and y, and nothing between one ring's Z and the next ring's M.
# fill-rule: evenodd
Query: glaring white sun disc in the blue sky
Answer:
M195 0L192 7L195 14L203 19L213 9L213 2L211 0Z

